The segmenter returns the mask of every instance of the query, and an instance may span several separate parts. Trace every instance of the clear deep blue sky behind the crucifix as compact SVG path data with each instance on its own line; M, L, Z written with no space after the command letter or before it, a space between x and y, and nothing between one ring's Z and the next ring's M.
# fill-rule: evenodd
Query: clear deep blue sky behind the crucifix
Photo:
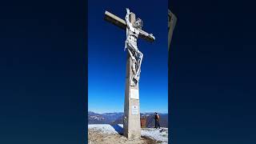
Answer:
M153 43L140 39L144 54L140 78L141 112L168 112L167 1L89 1L88 107L98 113L122 112L125 94L126 31L104 21L105 10L124 18L126 7L142 18Z

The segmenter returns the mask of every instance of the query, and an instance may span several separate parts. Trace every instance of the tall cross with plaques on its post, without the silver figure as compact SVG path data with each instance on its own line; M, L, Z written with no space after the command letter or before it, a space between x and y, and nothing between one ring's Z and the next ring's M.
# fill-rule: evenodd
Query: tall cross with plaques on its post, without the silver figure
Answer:
M104 19L107 22L113 23L115 26L126 30L126 21L118 18L110 12L105 12ZM130 14L130 22L136 21L135 14ZM145 39L148 42L154 42L153 34L148 34L144 30L139 30L138 38ZM130 54L127 53L126 60L126 91L124 104L124 120L123 120L123 135L126 138L141 138L141 122L140 122L140 108L139 108L139 89L138 84L131 86L131 79L133 76L133 60Z

